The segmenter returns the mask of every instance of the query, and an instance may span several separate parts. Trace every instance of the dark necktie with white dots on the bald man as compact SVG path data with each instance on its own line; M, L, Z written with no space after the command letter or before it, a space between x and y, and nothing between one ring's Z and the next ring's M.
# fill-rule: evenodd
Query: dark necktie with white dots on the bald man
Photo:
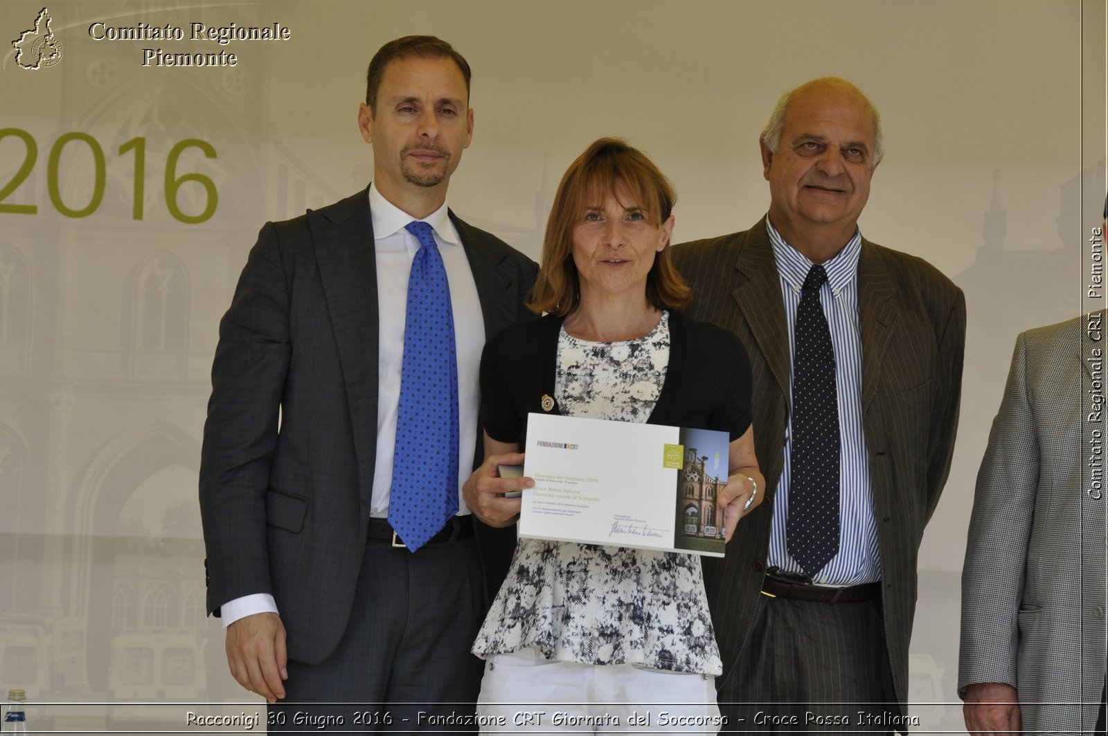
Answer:
M834 349L820 305L823 266L812 266L797 306L792 448L786 546L814 576L839 553L839 398Z

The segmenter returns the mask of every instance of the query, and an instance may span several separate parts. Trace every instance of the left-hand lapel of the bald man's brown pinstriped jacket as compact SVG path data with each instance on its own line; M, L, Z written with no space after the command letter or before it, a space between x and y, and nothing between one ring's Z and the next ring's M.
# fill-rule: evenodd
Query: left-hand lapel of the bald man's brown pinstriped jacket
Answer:
M735 299L781 393L788 397L789 343L781 339L786 329L784 303L765 217L747 231L735 267L745 277L735 287Z

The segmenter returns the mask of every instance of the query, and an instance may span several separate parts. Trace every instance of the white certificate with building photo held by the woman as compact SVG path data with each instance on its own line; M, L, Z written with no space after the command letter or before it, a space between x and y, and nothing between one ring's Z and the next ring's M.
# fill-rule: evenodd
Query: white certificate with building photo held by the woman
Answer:
M724 556L727 432L532 413L520 536Z

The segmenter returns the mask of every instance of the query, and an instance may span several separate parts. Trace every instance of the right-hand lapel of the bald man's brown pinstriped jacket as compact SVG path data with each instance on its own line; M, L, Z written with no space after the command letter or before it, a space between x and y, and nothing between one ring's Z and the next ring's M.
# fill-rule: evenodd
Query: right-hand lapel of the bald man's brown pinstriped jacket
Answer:
M876 247L862 238L858 258L858 318L862 338L862 413L878 389L881 361L899 319L892 296L895 288Z

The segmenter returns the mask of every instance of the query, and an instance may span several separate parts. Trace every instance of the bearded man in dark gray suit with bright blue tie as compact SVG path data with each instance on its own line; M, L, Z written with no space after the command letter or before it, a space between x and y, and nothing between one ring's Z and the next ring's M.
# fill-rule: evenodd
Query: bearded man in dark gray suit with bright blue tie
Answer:
M465 726L473 712L479 542L492 576L512 549L460 500L480 460L478 364L485 337L529 316L537 267L447 207L473 133L469 84L444 41L382 47L358 112L372 184L266 224L220 323L201 510L232 673L270 702L407 704L300 705L299 723L270 706L274 729ZM413 349L420 310L450 335L441 370ZM412 430L435 402L448 429ZM412 522L424 504L440 515Z

